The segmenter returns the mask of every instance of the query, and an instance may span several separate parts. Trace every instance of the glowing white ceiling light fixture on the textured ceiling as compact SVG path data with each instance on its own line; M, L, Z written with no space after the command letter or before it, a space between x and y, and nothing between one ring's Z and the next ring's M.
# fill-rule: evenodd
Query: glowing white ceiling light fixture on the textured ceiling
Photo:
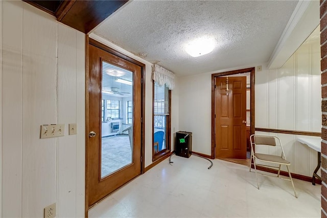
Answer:
M215 40L208 37L195 39L186 45L186 52L192 57L199 57L212 52L215 48Z

